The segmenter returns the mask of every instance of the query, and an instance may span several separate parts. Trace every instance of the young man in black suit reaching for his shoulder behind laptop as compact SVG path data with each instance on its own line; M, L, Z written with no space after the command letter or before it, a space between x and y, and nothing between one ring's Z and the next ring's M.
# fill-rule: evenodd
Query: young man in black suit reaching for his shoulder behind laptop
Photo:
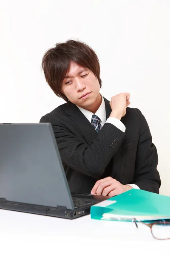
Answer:
M100 93L96 53L74 40L42 59L45 79L67 103L42 116L50 122L71 192L119 195L132 188L159 193L158 155L147 121L127 108L129 93L111 102Z

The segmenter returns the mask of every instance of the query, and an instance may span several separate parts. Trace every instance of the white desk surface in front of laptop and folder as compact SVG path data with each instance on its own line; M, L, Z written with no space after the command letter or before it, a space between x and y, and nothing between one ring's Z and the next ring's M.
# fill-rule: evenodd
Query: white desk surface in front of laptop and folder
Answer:
M170 240L132 222L67 220L0 210L0 255L170 256ZM3 254L2 254L3 252ZM69 254L68 254L69 253Z

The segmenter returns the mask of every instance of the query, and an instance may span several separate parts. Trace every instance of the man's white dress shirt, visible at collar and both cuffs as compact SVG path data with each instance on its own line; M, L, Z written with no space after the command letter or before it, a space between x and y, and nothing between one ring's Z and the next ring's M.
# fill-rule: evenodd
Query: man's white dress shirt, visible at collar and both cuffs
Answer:
M92 113L91 111L88 111L84 108L80 108L79 106L77 106L77 108L79 108L79 110L83 113L83 115L88 119L88 121L91 123L91 118L93 116L93 114L95 114L96 116L99 117L100 119L100 124L103 126L105 123L111 123L112 125L116 126L119 130L121 130L122 132L125 132L126 127L125 125L117 118L115 117L109 117L106 120L106 108L105 108L105 100L103 99L102 96L102 103L100 105L100 107L98 108L98 110L96 111L96 113ZM136 184L127 184L130 185L131 187L133 187L133 189L140 189L139 186L137 186Z

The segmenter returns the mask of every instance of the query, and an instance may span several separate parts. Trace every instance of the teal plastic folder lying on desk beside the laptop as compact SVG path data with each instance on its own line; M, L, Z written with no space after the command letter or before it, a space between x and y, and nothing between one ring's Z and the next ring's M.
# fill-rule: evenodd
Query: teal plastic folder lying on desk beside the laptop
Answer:
M121 221L170 219L170 197L131 189L92 206L91 218Z

